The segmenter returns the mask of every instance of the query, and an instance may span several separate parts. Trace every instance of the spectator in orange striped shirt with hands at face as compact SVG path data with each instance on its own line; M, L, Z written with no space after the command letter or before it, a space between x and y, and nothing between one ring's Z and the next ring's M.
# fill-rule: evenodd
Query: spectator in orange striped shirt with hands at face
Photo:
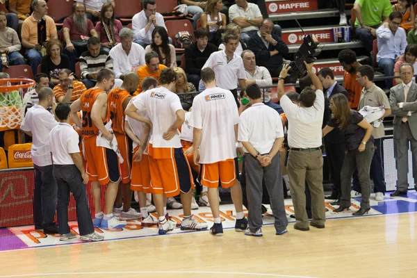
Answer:
M59 83L54 87L56 102L76 101L87 90L81 81L75 80L71 70L61 70L58 77Z

